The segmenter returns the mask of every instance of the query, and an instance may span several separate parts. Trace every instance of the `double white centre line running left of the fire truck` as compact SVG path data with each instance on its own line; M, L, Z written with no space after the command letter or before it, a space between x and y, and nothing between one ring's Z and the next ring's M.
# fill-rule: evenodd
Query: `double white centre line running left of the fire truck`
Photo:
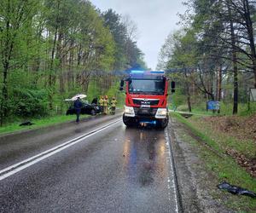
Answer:
M80 141L83 141L84 139L95 135L96 133L101 132L102 130L106 130L109 127L113 126L114 124L117 124L121 121L121 119L115 120L114 122L104 125L96 130L92 130L84 135L80 135L79 137L76 137L70 141L66 141L62 143L61 145L58 145L56 147L50 148L43 153L39 153L37 155L32 156L31 158L26 158L25 160L21 161L20 163L13 164L3 170L0 170L0 181L3 179L14 175L15 173L19 172L20 170L24 170L27 167L31 166L32 164L37 164L38 162L44 160L45 158L49 158L50 156L54 155L55 153L59 153L62 150L66 149L67 147L71 147L76 143L79 143Z

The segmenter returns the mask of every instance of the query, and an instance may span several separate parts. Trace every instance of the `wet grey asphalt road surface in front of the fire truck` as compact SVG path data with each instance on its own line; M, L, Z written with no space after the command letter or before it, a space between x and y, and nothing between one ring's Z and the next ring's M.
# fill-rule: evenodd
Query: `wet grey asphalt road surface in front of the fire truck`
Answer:
M0 137L0 170L118 118ZM119 121L0 181L0 212L176 212L175 196L165 131Z

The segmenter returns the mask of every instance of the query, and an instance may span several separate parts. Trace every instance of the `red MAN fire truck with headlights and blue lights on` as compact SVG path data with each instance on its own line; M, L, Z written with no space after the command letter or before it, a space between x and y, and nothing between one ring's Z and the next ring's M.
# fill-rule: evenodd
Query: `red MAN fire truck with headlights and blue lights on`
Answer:
M126 126L134 124L154 124L166 128L168 117L168 78L160 71L131 71L128 78L121 81L120 90L125 84ZM175 83L172 82L172 92Z

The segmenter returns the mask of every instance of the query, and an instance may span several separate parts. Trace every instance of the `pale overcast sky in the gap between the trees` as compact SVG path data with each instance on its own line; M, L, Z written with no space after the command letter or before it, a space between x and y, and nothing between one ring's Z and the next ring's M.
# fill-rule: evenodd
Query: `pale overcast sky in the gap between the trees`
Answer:
M170 32L178 29L177 13L183 14L183 0L90 0L96 8L113 9L129 15L137 24L139 49L145 54L148 67L155 69L161 46Z

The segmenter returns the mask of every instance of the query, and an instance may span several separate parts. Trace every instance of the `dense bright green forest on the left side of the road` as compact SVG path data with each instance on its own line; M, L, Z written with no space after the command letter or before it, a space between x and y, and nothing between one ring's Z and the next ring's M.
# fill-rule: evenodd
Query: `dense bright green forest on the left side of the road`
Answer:
M87 0L0 1L0 118L63 113L77 93L115 95L114 72L146 68L137 26Z

